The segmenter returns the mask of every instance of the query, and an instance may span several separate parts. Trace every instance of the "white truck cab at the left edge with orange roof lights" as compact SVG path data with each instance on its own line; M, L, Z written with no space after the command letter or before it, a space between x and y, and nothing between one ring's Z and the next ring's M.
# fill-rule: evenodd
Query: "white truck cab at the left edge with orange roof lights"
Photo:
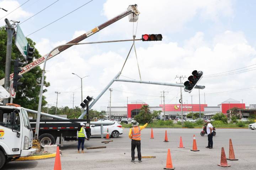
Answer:
M27 111L18 104L0 106L0 169L4 164L36 152Z

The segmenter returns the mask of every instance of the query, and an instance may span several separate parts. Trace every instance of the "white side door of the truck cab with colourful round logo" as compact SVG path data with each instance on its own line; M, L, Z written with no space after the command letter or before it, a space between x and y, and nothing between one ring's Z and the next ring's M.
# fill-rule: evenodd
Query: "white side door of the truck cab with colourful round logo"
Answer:
M0 110L0 145L8 155L21 154L22 123L20 114L16 110L15 125L11 124L13 109Z

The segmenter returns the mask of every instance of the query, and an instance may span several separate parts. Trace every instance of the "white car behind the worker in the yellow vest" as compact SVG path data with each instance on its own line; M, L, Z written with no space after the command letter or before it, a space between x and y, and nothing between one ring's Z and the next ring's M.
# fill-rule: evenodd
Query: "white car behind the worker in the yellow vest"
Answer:
M103 125L103 135L108 134L113 138L117 138L119 135L123 134L122 125L120 125L117 121L109 121L109 125ZM91 136L101 136L101 125L91 125Z

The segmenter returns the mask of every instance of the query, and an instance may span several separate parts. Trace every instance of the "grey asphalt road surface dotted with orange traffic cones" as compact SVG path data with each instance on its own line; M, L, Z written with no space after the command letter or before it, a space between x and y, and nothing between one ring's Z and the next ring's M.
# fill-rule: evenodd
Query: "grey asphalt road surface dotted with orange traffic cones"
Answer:
M156 156L156 158L142 159L142 163L130 162L129 129L124 129L124 134L113 142L102 144L101 138L94 137L85 142L85 147L107 146L103 149L85 150L85 154L78 154L76 142L64 142L61 148L62 169L88 169L88 170L156 170L163 169L166 165L167 149L171 150L172 164L175 169L182 170L252 170L256 167L256 130L249 129L217 129L213 137L213 149L205 148L207 136L200 136L201 129L153 129L154 139L150 139L150 130L142 130L142 156ZM163 142L167 130L168 140ZM192 152L193 134L196 135L199 152ZM185 148L179 146L182 136ZM221 147L224 147L226 156L229 154L229 138L232 139L234 152L238 161L229 161L230 167L217 166L220 163ZM111 139L112 140L112 139ZM136 151L137 152L137 151ZM33 161L15 161L6 164L3 170L29 169L52 170L54 158Z

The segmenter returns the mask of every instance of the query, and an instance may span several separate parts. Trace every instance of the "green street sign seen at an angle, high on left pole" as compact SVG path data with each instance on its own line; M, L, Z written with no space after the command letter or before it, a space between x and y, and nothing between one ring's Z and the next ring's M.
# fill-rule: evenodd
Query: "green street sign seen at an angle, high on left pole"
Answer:
M17 25L15 45L17 46L18 50L21 52L22 56L26 59L28 42L19 24Z

